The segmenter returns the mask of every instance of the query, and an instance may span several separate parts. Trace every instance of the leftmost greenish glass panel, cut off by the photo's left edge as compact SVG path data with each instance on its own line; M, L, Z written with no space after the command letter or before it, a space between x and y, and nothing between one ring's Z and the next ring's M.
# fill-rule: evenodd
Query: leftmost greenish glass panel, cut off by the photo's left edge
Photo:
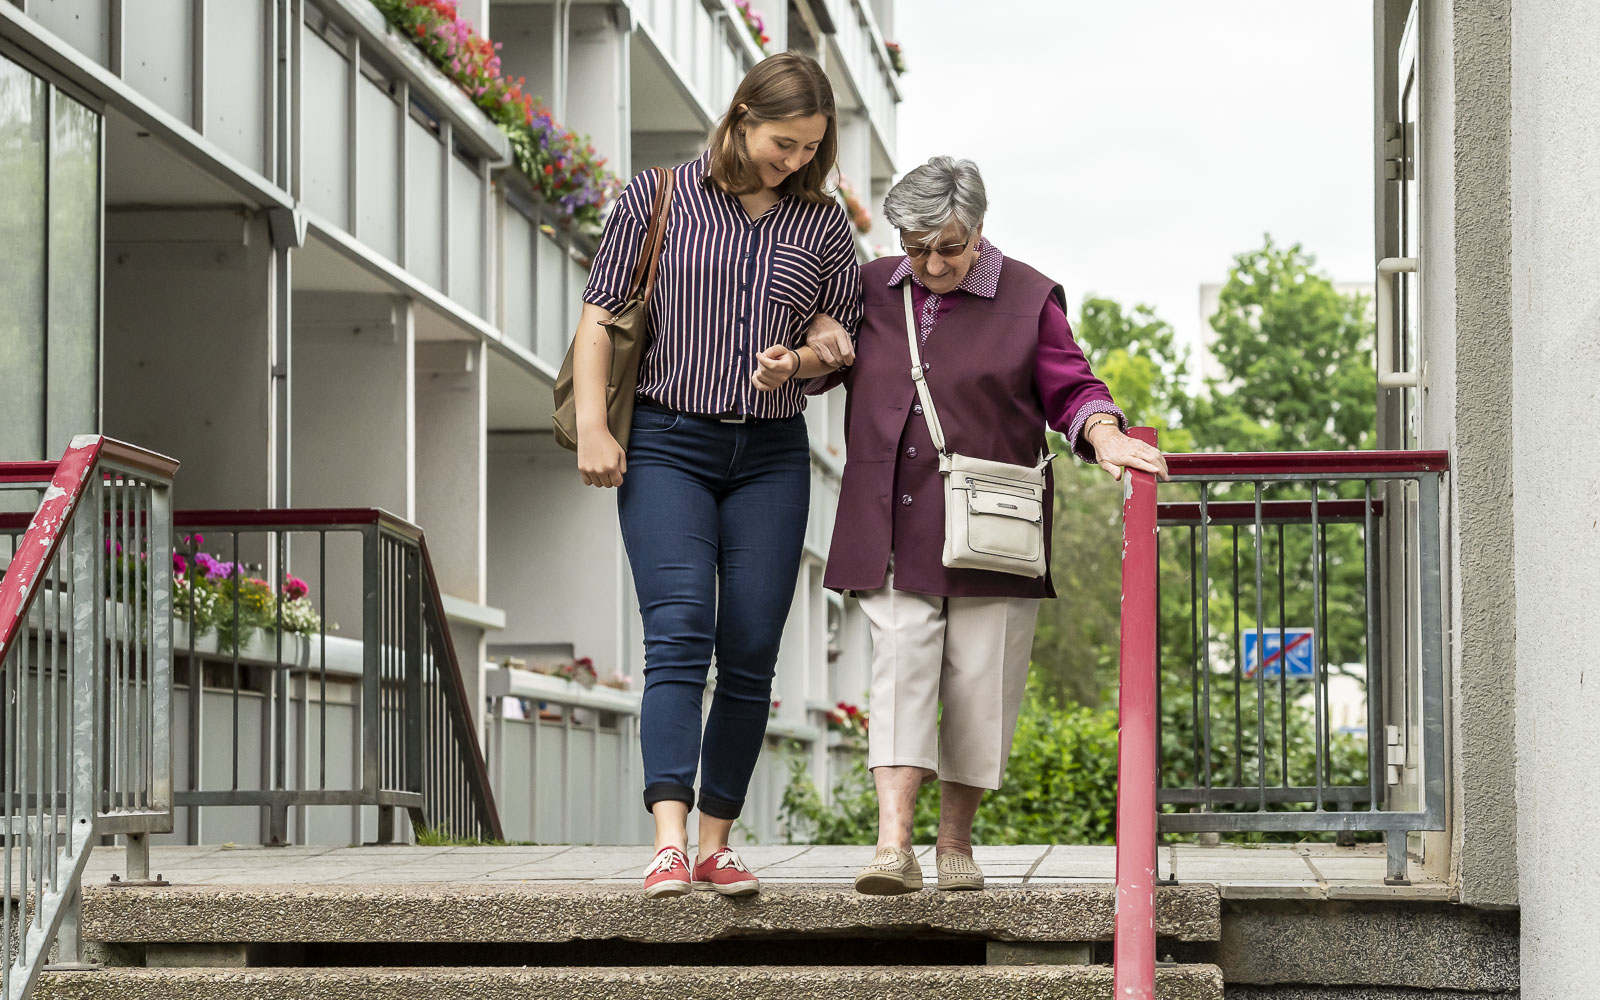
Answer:
M45 83L0 58L0 461L45 458Z

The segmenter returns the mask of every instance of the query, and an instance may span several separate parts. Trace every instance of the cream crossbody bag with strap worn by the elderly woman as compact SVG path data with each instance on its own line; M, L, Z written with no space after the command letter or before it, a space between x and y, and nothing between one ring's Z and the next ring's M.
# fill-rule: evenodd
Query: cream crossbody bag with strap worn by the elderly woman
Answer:
M910 341L910 378L917 384L933 446L939 450L939 474L944 477L944 565L950 570L1043 576L1045 504L1051 499L1045 493L1045 469L1054 456L1046 453L1037 466L1013 466L946 451L944 429L928 382L922 378L909 280L906 336Z

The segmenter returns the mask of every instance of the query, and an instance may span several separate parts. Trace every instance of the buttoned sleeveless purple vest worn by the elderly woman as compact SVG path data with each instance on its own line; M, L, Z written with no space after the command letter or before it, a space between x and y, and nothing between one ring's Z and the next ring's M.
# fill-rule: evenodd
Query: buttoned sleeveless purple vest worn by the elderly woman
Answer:
M866 315L856 363L845 376L845 474L822 582L834 590L877 590L893 552L896 590L942 597L1054 597L1048 570L1043 578L1029 579L984 570L946 570L941 562L944 477L910 381L901 286L886 285L899 262L899 258L880 258L861 269ZM1038 317L1048 296L1066 298L1059 285L1006 258L994 299L963 294L933 328L922 360L950 451L1016 464L1038 461L1045 448L1045 405L1034 370ZM1048 472L1045 482L1054 496ZM1046 566L1050 522L1046 504Z

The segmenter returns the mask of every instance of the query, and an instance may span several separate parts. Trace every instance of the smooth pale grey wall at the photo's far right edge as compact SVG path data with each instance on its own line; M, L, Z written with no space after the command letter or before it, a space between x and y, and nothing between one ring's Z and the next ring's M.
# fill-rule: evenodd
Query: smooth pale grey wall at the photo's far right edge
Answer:
M1594 995L1600 934L1600 8L1517 0L1509 27L1517 867L1523 997L1546 1000Z

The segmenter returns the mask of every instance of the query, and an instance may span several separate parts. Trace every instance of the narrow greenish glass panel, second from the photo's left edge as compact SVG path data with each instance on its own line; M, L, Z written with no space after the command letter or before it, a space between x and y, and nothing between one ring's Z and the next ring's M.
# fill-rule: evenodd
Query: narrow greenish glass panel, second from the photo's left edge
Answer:
M50 338L45 453L99 430L101 117L56 93L50 150Z

